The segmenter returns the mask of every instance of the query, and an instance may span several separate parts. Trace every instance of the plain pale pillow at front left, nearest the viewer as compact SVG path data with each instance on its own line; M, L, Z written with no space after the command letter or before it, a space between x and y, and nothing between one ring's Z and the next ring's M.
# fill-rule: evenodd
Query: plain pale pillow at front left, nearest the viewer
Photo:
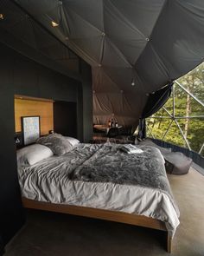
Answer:
M19 166L32 166L53 155L52 150L48 147L34 144L17 150L17 164Z

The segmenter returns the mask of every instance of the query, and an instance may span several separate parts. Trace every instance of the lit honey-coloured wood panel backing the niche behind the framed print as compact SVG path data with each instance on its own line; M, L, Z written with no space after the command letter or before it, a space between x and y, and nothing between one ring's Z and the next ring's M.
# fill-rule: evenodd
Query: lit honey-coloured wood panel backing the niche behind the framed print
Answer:
M53 102L42 102L27 99L15 99L16 132L22 131L21 116L40 115L41 135L54 129Z

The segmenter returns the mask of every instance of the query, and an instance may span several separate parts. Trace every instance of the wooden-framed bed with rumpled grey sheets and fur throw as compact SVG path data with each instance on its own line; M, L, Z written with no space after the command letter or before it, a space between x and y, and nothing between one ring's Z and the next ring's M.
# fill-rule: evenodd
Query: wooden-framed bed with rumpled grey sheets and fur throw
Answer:
M78 143L31 165L22 161L22 148L18 177L23 206L163 230L170 253L179 210L163 156L153 147L136 148L134 154L123 147Z

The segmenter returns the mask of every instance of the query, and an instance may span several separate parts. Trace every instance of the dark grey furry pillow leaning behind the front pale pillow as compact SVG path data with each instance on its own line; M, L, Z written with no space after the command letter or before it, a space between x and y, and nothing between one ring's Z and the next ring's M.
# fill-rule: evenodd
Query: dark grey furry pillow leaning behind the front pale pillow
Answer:
M62 135L52 134L37 139L36 143L50 148L54 154L66 154L72 150L73 145Z

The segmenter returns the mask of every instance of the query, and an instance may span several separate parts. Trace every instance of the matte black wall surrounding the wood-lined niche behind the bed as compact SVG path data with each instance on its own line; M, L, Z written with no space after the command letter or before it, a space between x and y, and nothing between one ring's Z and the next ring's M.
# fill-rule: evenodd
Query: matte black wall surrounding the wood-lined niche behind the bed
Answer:
M5 244L24 221L16 171L14 95L76 102L78 137L82 141L91 139L92 106L83 102L91 91L91 69L85 62L81 67L85 81L81 83L29 60L2 43L0 56L0 234Z

